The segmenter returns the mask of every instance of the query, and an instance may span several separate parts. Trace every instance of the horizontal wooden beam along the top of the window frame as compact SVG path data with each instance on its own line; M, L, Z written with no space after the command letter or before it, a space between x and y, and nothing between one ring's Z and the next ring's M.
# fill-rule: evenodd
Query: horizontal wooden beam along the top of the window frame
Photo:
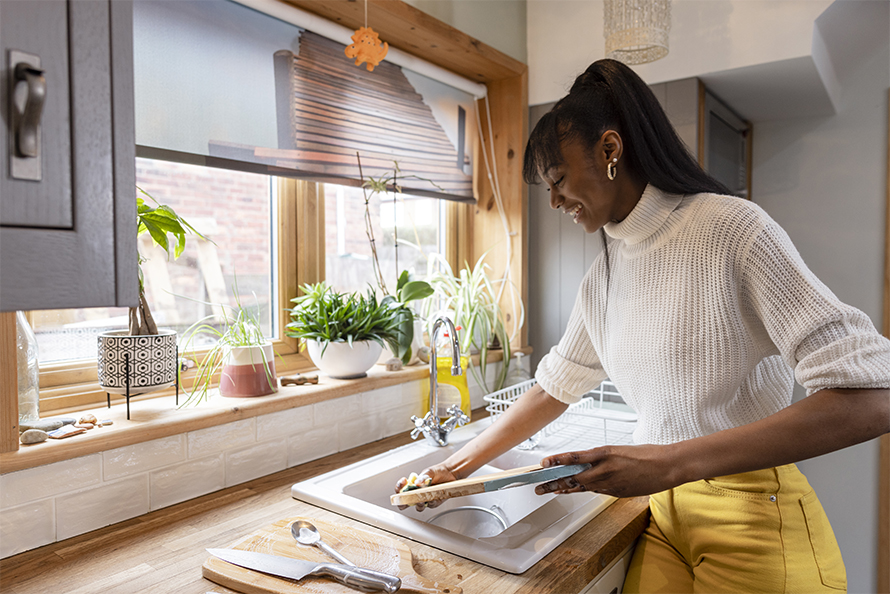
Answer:
M368 25L382 41L473 81L488 83L526 72L522 62L401 0L366 0ZM281 0L349 29L365 24L365 2Z

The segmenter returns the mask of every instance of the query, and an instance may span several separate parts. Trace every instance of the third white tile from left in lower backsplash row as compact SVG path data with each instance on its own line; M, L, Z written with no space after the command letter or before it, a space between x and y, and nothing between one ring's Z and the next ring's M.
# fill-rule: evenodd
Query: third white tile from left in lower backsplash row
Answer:
M225 455L189 460L168 468L153 470L149 476L151 509L154 511L225 488Z

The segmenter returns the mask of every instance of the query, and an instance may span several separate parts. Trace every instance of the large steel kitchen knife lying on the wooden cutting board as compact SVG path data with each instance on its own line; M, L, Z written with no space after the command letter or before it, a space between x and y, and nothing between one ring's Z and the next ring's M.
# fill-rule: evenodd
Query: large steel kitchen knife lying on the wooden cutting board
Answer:
M291 580L300 580L307 575L331 577L341 584L362 592L387 592L388 594L396 592L402 586L402 580L394 575L362 567L303 561L291 557L278 557L238 549L207 549L207 552L233 565Z

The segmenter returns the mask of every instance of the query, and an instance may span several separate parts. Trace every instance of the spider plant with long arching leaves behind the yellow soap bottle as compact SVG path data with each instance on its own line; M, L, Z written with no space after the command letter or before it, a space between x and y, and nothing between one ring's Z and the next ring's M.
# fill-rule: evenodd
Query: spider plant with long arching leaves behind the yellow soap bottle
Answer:
M498 305L497 283L503 280L492 281L488 277L490 266L483 260L488 253L483 254L471 269L469 265L459 272L457 276L452 272L451 266L439 254L433 254L429 259L429 271L427 279L434 290L432 304L451 312L455 326L460 326L458 338L461 349L469 353L471 349L479 352L479 369L470 363L470 372L476 383L487 393L496 392L504 387L511 362L511 337L507 332L504 322L503 310ZM511 289L515 289L512 287ZM520 328L525 320L525 310L522 300L520 306ZM504 360L500 372L494 380L494 385L489 388L486 381L486 369L488 366L488 351L491 349L503 349Z

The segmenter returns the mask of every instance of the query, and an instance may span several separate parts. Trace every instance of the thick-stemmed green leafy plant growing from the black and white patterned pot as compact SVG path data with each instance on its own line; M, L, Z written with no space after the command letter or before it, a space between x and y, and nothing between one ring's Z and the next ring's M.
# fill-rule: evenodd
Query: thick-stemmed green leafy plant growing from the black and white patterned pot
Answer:
M169 206L160 204L148 192L136 187L139 193L144 194L157 206L146 203L142 196L136 196L136 236L148 233L152 242L160 246L169 258L179 258L185 249L186 233L191 232L201 239L207 239L185 219L176 214ZM207 239L207 241L210 241ZM211 242L212 243L212 242ZM172 254L171 254L172 249ZM157 334L158 326L151 315L148 300L145 298L145 277L142 274L142 264L146 259L138 254L139 265L139 305L131 307L129 313L129 333L132 336L144 336Z

